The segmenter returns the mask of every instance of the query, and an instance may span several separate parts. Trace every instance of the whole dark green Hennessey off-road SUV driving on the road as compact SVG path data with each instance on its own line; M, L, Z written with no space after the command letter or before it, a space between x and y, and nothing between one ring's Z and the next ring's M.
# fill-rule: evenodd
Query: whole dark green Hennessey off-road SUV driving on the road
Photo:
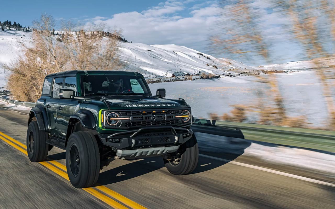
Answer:
M162 156L175 175L198 163L191 107L184 99L152 95L143 75L120 71L66 71L48 75L29 113L27 152L45 161L52 147L66 150L76 188L93 186L99 170L116 159Z

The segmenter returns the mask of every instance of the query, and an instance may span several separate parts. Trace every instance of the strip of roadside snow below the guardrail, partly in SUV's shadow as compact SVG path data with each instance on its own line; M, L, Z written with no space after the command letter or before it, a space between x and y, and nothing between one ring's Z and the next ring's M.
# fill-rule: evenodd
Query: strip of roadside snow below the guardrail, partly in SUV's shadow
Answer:
M335 154L198 132L195 135L200 151L254 156L274 164L335 174Z

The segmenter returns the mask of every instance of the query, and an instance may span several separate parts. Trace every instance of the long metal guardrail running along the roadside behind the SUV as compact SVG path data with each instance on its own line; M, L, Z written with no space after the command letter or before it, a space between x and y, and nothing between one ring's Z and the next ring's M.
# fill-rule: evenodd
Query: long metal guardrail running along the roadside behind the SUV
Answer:
M26 107L35 107L36 105L36 103L33 102L18 102L3 98L0 99L8 103ZM195 119L192 125L192 130L194 132L208 133L219 136L243 138L254 141L335 152L335 131L290 128L205 119Z

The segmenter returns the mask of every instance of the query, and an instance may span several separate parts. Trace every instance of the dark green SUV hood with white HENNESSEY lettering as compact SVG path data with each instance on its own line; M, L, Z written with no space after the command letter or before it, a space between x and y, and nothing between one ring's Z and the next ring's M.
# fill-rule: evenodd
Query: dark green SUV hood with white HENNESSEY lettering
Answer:
M183 100L161 98L106 99L110 107L124 109L158 109L158 108L187 108Z

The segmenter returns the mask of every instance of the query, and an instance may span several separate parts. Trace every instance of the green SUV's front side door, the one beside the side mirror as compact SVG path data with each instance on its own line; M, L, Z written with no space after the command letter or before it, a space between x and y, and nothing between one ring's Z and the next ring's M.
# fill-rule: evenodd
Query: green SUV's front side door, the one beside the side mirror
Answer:
M77 96L77 80L76 77L65 77L64 79L64 89L71 89L75 92ZM67 126L71 115L74 114L76 106L78 105L77 99L59 99L57 105L57 124L56 128L59 130L59 136L65 137L67 132Z

